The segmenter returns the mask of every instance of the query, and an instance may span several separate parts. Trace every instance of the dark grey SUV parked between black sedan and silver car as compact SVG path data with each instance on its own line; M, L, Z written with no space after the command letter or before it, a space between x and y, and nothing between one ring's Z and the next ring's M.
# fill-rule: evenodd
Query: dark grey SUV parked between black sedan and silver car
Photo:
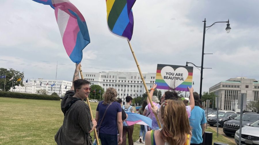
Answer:
M254 113L243 114L241 127L247 126L258 119L259 119L259 114L254 114ZM240 115L234 119L224 122L223 132L227 136L235 135L235 132L240 128L239 121L240 121Z

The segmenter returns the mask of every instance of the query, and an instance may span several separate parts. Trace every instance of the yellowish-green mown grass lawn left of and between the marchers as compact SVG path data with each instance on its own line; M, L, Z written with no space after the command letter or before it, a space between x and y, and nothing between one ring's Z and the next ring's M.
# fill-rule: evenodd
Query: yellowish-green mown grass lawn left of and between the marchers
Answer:
M56 144L54 136L64 119L60 102L0 97L0 144ZM90 104L94 117L97 104ZM135 125L134 140L138 140L139 130L140 125Z

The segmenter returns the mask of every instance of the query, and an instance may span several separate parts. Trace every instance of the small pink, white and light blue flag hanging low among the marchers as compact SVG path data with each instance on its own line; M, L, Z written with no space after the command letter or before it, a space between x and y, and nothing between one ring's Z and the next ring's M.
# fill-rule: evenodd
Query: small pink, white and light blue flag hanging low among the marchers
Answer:
M133 125L133 124L141 124L141 125L148 125L152 127L152 120L149 117L146 117L144 115L140 115L137 113L131 113L131 112L126 112L128 114L128 117L126 119L126 123L128 125Z

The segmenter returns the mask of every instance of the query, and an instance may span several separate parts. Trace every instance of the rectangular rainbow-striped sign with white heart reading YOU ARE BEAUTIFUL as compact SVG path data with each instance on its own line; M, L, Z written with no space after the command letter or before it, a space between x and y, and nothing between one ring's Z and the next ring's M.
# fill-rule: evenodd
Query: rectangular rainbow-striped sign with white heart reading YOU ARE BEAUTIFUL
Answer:
M193 82L193 67L157 64L157 89L188 91Z

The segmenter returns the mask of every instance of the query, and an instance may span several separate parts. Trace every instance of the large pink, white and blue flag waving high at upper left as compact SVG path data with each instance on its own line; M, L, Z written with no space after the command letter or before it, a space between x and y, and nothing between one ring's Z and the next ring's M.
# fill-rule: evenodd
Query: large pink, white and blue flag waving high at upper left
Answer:
M63 45L69 58L80 63L83 49L90 43L89 32L83 15L69 0L33 0L50 5L55 10L56 21Z

